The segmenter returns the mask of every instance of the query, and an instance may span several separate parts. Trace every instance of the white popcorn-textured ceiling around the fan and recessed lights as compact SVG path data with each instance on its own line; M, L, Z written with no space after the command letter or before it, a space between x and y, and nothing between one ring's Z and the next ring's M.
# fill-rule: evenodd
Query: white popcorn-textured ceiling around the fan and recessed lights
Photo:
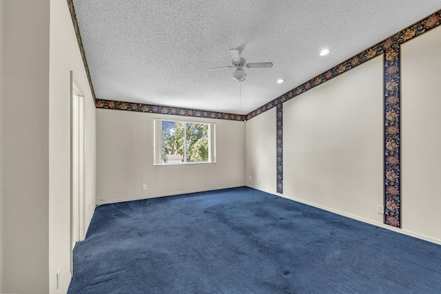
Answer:
M96 98L247 114L441 1L74 0L74 7ZM207 70L231 65L232 48L243 48L248 63L274 66L246 68L241 83L234 69Z

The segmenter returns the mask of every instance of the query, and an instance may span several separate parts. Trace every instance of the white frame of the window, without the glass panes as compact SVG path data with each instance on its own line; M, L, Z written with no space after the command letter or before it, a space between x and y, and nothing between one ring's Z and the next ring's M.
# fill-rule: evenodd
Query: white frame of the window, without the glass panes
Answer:
M163 162L162 148L162 122L173 121L178 123L194 123L208 125L208 161L199 162ZM207 163L216 163L216 123L208 123L206 121L189 121L189 120L174 120L165 118L154 118L153 120L153 165L200 165ZM186 157L186 154L185 154Z

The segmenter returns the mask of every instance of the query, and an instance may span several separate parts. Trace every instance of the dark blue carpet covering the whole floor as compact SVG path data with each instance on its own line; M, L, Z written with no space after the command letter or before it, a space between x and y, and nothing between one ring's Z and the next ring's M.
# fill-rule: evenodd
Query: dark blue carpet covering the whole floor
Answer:
M68 293L441 293L441 246L223 189L97 207Z

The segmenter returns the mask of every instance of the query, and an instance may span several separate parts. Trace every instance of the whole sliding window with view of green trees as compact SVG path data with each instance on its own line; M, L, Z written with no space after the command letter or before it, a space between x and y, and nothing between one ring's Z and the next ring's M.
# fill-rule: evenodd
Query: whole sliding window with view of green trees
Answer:
M154 120L154 165L216 162L214 123Z

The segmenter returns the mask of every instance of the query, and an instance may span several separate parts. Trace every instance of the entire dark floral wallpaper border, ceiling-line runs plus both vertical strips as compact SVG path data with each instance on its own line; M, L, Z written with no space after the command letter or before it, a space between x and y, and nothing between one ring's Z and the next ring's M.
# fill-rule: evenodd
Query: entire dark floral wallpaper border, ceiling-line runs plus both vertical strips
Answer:
M441 10L434 12L404 30L390 36L371 48L360 52L356 56L347 59L343 63L332 67L327 72L323 72L311 80L295 87L293 90L278 96L273 101L258 107L249 114L226 114L220 112L209 112L195 109L185 109L178 107L166 107L159 105L147 105L142 103L129 103L123 101L107 101L96 99L88 63L85 59L81 34L76 21L73 0L67 0L79 43L84 67L88 75L90 89L95 101L96 108L118 109L135 112L149 112L155 114L174 114L180 116L194 116L202 118L216 118L227 120L245 121L267 110L277 107L276 110L276 158L277 158L277 185L278 193L283 193L283 103L292 99L303 92L329 81L353 67L357 67L373 57L384 54L384 224L391 227L401 227L401 180L400 180L400 45L416 36L420 36L440 25Z

